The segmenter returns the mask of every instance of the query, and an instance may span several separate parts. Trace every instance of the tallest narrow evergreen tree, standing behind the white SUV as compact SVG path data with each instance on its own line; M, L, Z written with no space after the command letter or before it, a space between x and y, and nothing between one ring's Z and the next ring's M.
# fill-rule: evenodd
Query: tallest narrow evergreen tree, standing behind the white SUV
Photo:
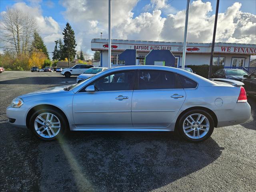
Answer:
M73 60L76 56L76 40L75 32L72 30L70 24L67 22L66 28L63 31L63 41L64 41L64 53L68 58L68 67L70 67L70 60Z

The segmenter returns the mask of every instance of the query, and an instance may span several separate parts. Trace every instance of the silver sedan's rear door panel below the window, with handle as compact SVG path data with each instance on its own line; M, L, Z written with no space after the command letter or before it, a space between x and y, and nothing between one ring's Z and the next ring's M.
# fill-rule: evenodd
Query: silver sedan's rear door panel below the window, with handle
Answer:
M171 97L176 94L183 97ZM132 96L133 126L169 126L185 98L184 90L134 90Z

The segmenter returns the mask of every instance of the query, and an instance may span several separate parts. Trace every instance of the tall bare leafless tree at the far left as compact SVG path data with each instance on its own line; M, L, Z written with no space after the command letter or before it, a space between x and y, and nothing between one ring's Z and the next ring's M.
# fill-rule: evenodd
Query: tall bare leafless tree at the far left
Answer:
M15 48L18 56L28 53L34 30L37 30L36 19L19 9L10 9L2 15L0 40L6 46Z

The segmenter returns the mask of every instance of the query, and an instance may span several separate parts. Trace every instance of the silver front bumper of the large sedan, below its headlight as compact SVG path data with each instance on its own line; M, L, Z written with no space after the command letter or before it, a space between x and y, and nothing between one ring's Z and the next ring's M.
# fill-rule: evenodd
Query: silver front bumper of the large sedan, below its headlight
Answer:
M14 107L6 108L6 116L9 119L11 119L9 120L9 123L22 128L26 127L27 112L28 112L28 108L14 108ZM12 119L15 119L15 121L13 122Z

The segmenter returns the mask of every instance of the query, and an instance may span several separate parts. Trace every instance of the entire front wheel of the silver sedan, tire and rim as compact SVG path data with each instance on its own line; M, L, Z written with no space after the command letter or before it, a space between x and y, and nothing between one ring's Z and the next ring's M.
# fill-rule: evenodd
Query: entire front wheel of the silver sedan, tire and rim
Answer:
M30 130L36 138L52 141L66 133L68 124L63 114L53 109L42 109L30 118Z

